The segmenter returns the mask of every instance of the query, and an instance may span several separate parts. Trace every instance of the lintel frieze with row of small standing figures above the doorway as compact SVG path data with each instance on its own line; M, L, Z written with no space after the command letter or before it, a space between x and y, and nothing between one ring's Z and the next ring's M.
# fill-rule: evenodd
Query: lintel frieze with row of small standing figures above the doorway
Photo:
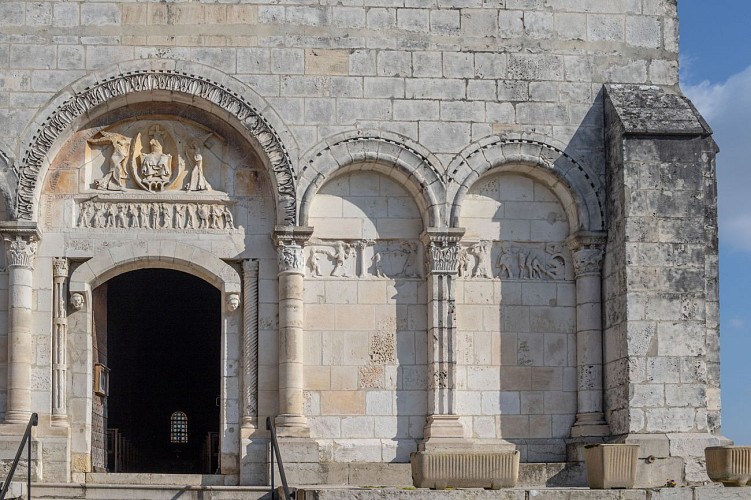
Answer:
M78 207L77 226L108 229L235 229L227 205L217 203L128 203L84 201Z

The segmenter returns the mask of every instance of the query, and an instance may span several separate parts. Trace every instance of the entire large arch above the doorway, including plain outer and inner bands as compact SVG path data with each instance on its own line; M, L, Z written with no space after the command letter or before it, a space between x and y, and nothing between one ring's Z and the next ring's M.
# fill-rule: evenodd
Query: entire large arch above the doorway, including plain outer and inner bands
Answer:
M144 68L145 65L148 67ZM146 93L154 101L198 105L233 119L260 146L268 161L267 168L276 187L277 223L295 224L296 174L281 134L290 144L294 140L281 119L242 82L207 66L174 60L131 61L89 75L70 85L42 110L38 115L41 119L31 126L33 132L27 129L25 134L28 146L19 167L15 216L34 220L41 189L40 173L49 165L53 146L66 131L95 109L106 109L119 99L124 99L123 104L143 101ZM249 96L256 102L249 102Z

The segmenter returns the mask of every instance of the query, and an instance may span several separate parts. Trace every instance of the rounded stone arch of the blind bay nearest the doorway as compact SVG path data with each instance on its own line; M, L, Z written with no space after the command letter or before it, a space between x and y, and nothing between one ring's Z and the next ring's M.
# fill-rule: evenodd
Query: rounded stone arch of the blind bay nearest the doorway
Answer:
M306 225L310 204L323 184L353 170L372 170L387 175L415 198L425 227L445 224L446 183L440 160L408 139L383 131L338 134L311 148L300 161L300 213Z

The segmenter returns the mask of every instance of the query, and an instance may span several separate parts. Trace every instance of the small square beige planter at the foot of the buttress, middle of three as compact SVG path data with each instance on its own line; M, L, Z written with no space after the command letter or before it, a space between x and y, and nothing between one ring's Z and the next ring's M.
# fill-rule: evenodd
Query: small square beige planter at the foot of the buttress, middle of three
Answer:
M587 483L593 489L633 488L637 444L597 444L584 449Z

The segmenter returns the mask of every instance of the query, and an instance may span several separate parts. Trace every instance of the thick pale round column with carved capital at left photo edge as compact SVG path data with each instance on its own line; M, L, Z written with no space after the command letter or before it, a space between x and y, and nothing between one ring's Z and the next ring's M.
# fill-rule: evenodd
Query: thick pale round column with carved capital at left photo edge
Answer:
M13 224L13 225L11 225ZM8 263L8 402L5 423L25 424L31 417L31 326L36 224L6 223Z

